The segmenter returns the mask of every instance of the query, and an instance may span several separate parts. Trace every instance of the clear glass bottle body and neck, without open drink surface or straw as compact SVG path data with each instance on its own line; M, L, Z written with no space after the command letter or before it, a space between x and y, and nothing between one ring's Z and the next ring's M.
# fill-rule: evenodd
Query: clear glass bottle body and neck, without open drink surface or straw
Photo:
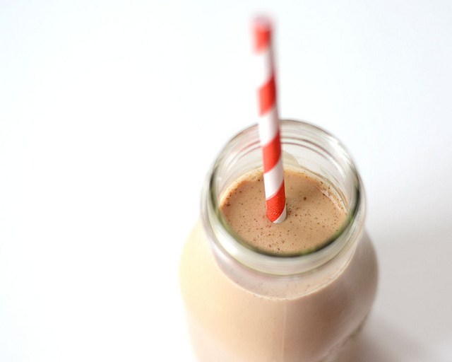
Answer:
M376 293L376 256L364 230L365 196L350 154L331 134L282 121L285 166L309 170L334 187L347 221L321 249L268 255L232 232L222 192L261 168L257 126L221 151L201 197L201 221L180 264L182 297L201 362L335 361L367 317Z

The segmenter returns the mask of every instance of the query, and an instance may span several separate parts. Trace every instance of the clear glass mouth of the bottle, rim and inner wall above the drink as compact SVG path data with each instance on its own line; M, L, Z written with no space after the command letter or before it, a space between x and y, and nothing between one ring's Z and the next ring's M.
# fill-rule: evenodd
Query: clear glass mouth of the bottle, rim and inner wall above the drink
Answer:
M288 276L318 269L345 253L364 226L364 190L350 153L334 136L306 122L280 122L283 162L326 178L343 198L347 218L342 228L316 250L297 255L270 255L251 247L220 210L222 192L239 176L261 168L258 126L234 136L220 151L203 189L203 224L216 255L230 257L265 274Z

